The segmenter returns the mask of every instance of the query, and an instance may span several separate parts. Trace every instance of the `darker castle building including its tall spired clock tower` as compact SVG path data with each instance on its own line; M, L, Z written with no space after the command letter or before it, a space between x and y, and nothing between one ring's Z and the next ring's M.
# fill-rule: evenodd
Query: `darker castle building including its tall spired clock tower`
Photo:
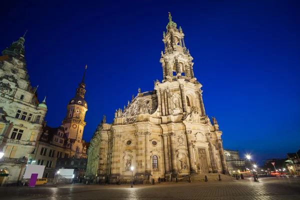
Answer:
M67 112L62 121L62 125L52 128L46 126L44 123L43 132L38 139L36 149L29 156L28 163L45 165L43 177L53 178L55 176L57 171L57 159L87 158L86 143L82 140L83 128L85 126L84 117L87 111L87 103L84 100L84 76L85 71L82 81L76 89L75 97L71 98L66 106ZM86 162L87 161L85 161L85 165ZM64 166L64 163L66 166ZM72 167L69 163L71 163L71 161L59 161L58 165L64 168L78 168L77 166ZM85 171L86 167L82 168L84 168Z

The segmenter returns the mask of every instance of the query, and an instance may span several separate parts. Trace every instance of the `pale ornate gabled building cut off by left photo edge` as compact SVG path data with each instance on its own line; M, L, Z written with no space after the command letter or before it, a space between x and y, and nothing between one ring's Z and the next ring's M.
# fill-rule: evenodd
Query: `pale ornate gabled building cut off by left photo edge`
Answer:
M47 106L30 85L24 35L0 56L0 186L21 181L29 154L42 132ZM7 176L6 176L7 175Z

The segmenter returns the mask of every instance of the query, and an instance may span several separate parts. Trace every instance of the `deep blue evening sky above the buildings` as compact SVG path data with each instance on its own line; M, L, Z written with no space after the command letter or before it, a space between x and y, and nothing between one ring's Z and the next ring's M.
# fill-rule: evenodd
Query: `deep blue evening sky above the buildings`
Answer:
M89 140L105 114L137 88L162 79L159 63L167 12L181 26L203 85L206 113L218 120L223 146L266 158L285 157L300 141L298 0L69 1L1 3L0 49L28 29L25 58L47 124L59 126L85 64ZM4 4L3 4L4 3Z

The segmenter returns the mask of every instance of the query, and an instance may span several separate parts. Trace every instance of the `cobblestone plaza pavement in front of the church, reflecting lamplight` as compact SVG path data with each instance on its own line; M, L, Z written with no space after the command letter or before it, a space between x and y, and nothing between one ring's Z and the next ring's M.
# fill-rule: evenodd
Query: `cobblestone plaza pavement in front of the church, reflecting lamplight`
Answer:
M234 181L172 182L155 185L85 185L1 187L1 199L299 199L300 178L268 177Z

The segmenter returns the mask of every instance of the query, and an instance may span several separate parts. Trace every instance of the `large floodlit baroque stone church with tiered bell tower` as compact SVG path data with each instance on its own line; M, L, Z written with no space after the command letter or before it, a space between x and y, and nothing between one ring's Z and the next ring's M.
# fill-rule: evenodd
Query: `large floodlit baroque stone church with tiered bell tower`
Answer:
M161 51L163 80L154 90L132 96L115 111L111 124L105 116L88 148L86 178L110 183L152 178L183 177L193 173L228 174L217 121L205 113L201 84L193 73L181 27L169 14Z

